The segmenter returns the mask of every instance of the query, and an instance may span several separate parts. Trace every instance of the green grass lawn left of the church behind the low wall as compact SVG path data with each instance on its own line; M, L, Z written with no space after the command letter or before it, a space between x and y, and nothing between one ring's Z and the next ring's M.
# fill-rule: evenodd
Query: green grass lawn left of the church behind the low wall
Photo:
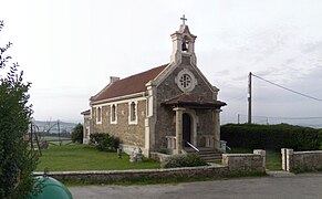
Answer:
M143 163L129 163L129 157L123 154L120 159L116 153L98 151L89 145L52 146L42 150L37 171L70 171L70 170L126 170L160 168L160 164L150 159Z

